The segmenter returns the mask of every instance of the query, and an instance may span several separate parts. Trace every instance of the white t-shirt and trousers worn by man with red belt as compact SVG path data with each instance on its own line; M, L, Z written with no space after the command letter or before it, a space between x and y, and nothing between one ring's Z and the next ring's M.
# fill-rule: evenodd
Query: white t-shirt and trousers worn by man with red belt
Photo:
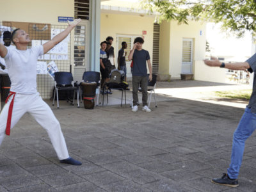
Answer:
M28 112L48 132L58 158L67 159L68 150L60 123L36 90L36 61L38 56L44 54L44 47L39 45L26 51L6 48L8 52L4 60L12 82L10 92L15 94L10 96L0 115L0 145L7 134L6 126L10 124L12 129L22 115Z

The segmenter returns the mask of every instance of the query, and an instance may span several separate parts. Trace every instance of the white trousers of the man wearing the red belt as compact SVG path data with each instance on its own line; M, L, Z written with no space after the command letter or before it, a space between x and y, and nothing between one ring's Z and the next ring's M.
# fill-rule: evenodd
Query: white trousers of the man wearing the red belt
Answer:
M0 145L5 137L6 123L8 118L8 111L10 103L12 102L13 95L8 99L5 104L3 111L0 115ZM28 112L32 115L36 122L40 124L48 132L49 138L51 139L52 145L57 153L60 160L67 159L68 150L67 145L60 128L60 123L52 113L51 108L42 100L39 93L31 95L16 94L13 103L12 112L12 127L17 124L24 113ZM12 131L11 134L12 135Z

